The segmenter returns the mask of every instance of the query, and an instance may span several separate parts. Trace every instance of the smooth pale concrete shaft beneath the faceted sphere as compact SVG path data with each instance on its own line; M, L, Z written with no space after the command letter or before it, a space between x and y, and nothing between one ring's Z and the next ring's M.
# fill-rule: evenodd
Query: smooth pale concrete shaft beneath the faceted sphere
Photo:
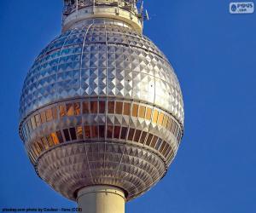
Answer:
M84 187L77 201L82 213L125 213L125 193L118 187Z

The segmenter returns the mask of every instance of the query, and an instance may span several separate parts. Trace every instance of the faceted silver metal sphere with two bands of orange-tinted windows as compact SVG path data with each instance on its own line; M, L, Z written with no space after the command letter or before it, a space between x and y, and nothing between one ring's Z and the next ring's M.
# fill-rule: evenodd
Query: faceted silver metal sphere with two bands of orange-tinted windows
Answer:
M75 200L111 185L130 200L166 174L183 135L172 66L116 20L73 26L42 51L20 98L20 137L35 170Z

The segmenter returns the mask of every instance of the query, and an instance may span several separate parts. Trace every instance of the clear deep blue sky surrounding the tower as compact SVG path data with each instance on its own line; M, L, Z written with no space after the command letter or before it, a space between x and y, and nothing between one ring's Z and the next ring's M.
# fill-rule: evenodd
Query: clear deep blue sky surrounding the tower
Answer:
M161 3L161 4L160 4ZM167 176L127 212L256 212L256 13L228 0L145 0L144 33L180 80L185 135ZM71 207L36 176L18 135L20 89L61 32L61 0L1 0L0 208Z

